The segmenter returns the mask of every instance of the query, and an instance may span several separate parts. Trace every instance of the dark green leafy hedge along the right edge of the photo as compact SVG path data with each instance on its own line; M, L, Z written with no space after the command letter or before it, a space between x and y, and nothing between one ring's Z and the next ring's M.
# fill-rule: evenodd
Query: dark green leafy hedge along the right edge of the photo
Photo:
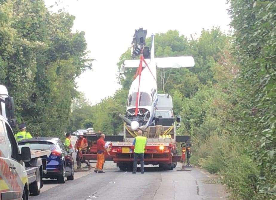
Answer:
M241 67L237 80L238 133L249 141L248 153L260 175L259 199L276 196L276 37L275 1L230 1L234 53ZM254 148L252 148L254 147Z

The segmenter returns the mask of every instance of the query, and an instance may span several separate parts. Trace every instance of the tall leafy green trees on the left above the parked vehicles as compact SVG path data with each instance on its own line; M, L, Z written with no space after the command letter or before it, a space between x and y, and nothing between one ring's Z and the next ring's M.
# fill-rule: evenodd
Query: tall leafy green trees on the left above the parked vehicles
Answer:
M74 16L51 14L44 1L0 2L0 83L15 98L16 118L30 133L63 136L75 78L90 69L83 32Z

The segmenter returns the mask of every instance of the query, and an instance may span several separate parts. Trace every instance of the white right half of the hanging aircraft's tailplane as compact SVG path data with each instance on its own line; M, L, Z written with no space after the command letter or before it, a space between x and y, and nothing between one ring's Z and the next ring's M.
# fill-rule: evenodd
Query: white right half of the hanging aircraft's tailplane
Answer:
M194 58L192 56L155 58L154 61L159 68L194 67Z

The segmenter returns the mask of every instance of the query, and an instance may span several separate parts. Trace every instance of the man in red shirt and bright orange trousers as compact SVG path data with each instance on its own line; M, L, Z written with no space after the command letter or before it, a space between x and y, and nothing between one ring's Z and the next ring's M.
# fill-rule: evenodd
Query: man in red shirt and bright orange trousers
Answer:
M105 147L105 134L102 133L100 138L97 140L97 164L94 170L96 173L105 173L102 170L103 163L105 162L105 151L108 155L110 155Z

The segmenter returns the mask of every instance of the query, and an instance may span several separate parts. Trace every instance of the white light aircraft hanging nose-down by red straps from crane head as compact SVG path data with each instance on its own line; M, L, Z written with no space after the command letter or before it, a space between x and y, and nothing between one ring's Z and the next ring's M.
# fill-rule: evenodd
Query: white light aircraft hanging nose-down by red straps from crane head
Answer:
M149 47L145 47L146 34L147 31L143 28L135 30L131 47L132 58L140 56L140 59L125 60L120 69L120 74L122 74L125 68L138 67L135 79L129 89L125 116L119 115L130 130L145 130L154 123L158 101L157 67L180 68L194 66L192 56L155 58L154 35L151 35L151 50L149 50Z

